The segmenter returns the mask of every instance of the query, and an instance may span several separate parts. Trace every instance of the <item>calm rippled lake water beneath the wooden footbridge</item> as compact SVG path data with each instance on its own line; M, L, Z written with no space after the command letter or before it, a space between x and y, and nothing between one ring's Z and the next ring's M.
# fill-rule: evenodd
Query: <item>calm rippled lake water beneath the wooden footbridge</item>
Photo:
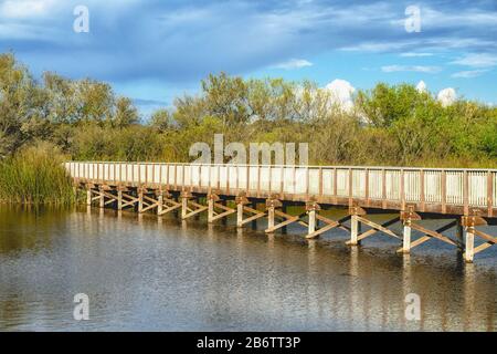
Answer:
M399 256L388 236L349 248L340 230L263 229L0 206L0 330L496 331L497 247L465 264L437 240ZM76 293L88 321L73 317Z

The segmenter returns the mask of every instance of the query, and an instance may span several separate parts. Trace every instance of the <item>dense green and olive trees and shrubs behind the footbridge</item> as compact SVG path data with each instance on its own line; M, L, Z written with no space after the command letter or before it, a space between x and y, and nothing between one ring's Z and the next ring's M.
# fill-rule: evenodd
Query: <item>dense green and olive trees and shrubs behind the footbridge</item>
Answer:
M353 107L310 82L210 75L198 95L139 117L108 84L45 73L0 55L0 158L47 142L72 159L190 160L194 142L307 142L311 164L497 166L497 107L443 106L412 85L359 91Z

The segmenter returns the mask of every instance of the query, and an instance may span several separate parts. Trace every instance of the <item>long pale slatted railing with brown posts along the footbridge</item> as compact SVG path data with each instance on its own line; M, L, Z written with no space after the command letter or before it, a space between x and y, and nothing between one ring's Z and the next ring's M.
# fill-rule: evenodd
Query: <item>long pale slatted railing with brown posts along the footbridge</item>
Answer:
M78 183L125 185L335 205L497 217L497 169L254 166L152 163L65 164Z

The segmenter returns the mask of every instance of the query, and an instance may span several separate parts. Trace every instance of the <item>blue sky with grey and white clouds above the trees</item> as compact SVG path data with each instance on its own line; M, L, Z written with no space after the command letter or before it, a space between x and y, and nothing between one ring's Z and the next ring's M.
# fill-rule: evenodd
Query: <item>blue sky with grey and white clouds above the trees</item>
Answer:
M88 33L73 30L76 6ZM420 32L405 30L410 6ZM497 104L497 0L0 0L0 50L35 75L107 81L144 114L220 71L356 88L422 80Z

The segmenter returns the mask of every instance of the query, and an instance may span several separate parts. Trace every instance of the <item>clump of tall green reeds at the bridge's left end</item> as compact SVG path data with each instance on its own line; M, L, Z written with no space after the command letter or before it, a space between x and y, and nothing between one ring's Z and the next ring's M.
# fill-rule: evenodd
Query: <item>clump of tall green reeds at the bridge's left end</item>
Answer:
M19 150L0 162L2 202L71 205L75 201L71 178L62 167L62 154L49 144Z

